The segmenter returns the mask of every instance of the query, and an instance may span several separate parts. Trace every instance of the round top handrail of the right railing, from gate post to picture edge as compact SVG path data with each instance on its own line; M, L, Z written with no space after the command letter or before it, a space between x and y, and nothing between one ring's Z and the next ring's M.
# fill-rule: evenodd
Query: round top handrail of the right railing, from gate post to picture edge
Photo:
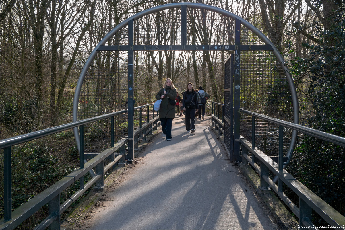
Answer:
M312 128L309 128L309 127L301 126L299 124L294 124L294 123L291 123L291 122L288 122L288 121L283 121L283 120L279 120L279 119L276 119L276 118L267 117L265 115L262 115L262 114L259 114L259 113L256 113L256 112L251 112L251 111L248 111L248 110L245 110L245 109L240 109L240 111L244 112L244 113L247 113L249 115L252 115L254 117L257 117L257 118L269 121L271 123L278 124L280 126L284 126L286 128L293 129L293 130L296 130L298 132L302 132L302 133L308 134L310 136L322 139L324 141L332 142L334 144L338 144L339 146L345 147L345 138L344 137L339 137L339 136L336 136L336 135L331 134L331 133L326 133L326 132L323 132L323 131L320 131L320 130L316 130L316 129L312 129Z

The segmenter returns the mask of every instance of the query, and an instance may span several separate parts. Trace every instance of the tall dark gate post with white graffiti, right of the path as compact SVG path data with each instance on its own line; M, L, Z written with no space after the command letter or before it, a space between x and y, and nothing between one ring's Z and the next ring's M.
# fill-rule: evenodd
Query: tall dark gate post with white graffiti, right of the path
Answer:
M234 139L239 140L240 135L240 29L241 21L236 19L235 21L235 59L234 59ZM240 160L239 155L240 143L234 141L234 163L236 164Z

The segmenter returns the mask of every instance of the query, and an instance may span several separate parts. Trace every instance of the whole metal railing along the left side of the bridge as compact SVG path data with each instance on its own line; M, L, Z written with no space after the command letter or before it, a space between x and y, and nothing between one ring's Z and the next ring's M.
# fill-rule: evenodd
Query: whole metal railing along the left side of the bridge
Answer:
M135 145L138 147L138 142L144 138L147 134L151 134L152 130L157 129L159 117L155 117L155 111L153 110L154 103L146 104L144 106L135 107L134 110L139 110L139 128L134 131ZM152 109L152 119L149 119L149 111ZM147 121L142 123L141 114L142 108L147 108ZM118 112L108 113L97 117L83 119L60 126L23 134L17 137L7 138L0 141L0 149L4 149L4 218L1 219L1 229L14 229L24 220L28 219L32 214L38 211L40 208L48 203L48 217L43 220L36 229L60 229L60 215L65 211L74 201L76 201L84 192L86 192L93 184L96 184L95 188L102 189L104 183L104 173L109 169L113 169L118 164L126 164L125 148L128 142L128 136L123 137L121 140L114 143L114 118L122 113L127 113L128 110L121 110ZM94 154L89 161L84 163L83 154L83 127L85 124L99 121L102 119L111 119L111 147L102 151L99 154ZM62 132L68 129L79 127L80 137L80 153L79 153L79 169L68 174L52 186L39 193L28 202L11 212L12 207L12 195L11 195L11 147L20 143L28 142L31 140L39 139L49 136L54 133ZM119 151L118 151L119 150ZM116 153L118 151L118 153ZM110 163L104 166L104 160L109 158ZM96 168L96 175L92 177L88 182L84 182L84 175ZM63 204L60 205L60 193L63 192L70 185L79 180L80 188L70 198L68 198Z

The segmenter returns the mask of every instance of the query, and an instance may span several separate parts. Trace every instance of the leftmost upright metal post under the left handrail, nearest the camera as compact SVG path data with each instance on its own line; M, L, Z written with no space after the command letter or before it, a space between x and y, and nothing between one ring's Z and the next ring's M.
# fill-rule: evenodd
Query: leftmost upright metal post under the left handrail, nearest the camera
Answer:
M4 220L12 219L12 166L11 146L4 149L3 186L4 186Z

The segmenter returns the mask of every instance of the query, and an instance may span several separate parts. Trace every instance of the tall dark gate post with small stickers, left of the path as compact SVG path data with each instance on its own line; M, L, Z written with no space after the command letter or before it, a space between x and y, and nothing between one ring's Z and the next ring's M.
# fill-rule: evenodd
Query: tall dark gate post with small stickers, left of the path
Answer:
M128 22L128 155L127 161L134 159L134 20Z

